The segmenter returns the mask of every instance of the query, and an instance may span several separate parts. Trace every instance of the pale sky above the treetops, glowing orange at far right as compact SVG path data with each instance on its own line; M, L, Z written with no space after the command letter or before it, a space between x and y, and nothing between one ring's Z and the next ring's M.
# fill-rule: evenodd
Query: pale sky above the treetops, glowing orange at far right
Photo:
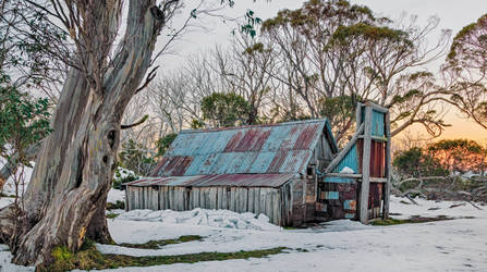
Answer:
M207 1L208 2L208 1ZM251 9L256 12L261 18L269 18L277 14L282 9L297 9L303 4L302 0L235 0L233 9L227 9L219 14L226 14L230 17L236 17ZM455 35L463 26L475 22L483 14L487 13L486 0L351 0L352 3L364 4L369 7L376 14L398 18L404 13L417 15L418 22L426 22L426 20L436 15L440 17L440 29L451 29ZM190 0L186 4L186 11L194 9L199 1ZM222 23L218 17L204 17L198 22L198 25L204 25L205 29L194 29L186 34L184 38L178 41L173 48L173 53L161 58L160 62L165 67L162 73L176 69L184 63L187 55L196 52L205 51L215 46L229 45L231 39L231 30L236 27L235 23ZM203 23L203 24L202 24ZM433 37L431 42L435 41ZM162 41L163 42L163 41ZM160 45L159 45L160 47ZM433 71L438 69L440 62L431 64L429 67ZM487 143L487 131L472 121L467 121L454 109L448 109L446 115L447 123L451 127L446 128L440 138L470 138ZM413 127L412 133L421 133L421 127ZM426 135L425 135L426 136Z

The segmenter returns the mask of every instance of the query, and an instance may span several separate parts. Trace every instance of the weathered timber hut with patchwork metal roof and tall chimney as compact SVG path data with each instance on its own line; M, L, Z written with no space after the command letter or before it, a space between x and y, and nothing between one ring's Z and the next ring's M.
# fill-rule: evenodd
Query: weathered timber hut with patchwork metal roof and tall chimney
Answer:
M183 131L151 176L125 184L125 207L264 213L283 226L387 217L388 111L357 108L341 151L326 119Z

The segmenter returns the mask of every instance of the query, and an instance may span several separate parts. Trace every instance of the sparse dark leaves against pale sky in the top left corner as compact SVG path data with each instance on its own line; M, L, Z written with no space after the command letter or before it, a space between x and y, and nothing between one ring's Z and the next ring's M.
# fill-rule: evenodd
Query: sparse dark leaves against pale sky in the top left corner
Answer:
M20 91L59 83L69 50L66 33L48 20L47 10L27 1L2 1L1 5L1 72L15 78Z

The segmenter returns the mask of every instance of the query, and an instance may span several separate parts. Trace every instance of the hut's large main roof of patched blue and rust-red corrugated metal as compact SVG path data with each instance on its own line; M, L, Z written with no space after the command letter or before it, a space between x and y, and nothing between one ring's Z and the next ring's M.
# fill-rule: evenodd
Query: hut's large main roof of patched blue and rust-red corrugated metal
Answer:
M184 131L154 176L304 173L322 132L336 148L328 121Z

